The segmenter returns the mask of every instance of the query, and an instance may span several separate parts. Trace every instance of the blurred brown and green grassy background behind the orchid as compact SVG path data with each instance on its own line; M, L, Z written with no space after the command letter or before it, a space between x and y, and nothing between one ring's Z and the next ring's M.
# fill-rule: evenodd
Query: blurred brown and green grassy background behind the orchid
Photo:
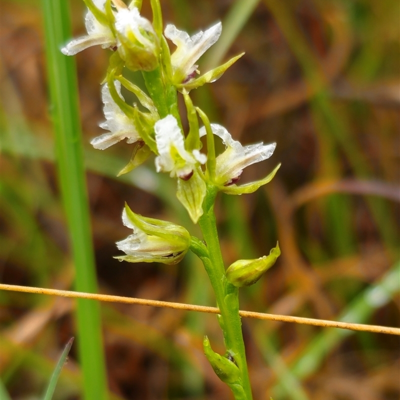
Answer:
M77 36L84 33L84 6L70 5ZM0 6L0 281L69 289L74 267L53 164L41 3ZM399 2L162 0L161 6L165 22L190 33L222 20L222 36L201 70L246 52L217 82L193 91L195 104L243 144L277 142L270 159L242 176L262 177L281 162L271 183L217 201L227 265L268 253L277 239L282 251L259 282L241 290L241 308L398 326ZM150 16L146 0L143 13ZM108 55L91 47L76 57L99 291L214 305L194 256L173 266L112 258L114 242L129 234L120 220L124 201L137 213L198 231L175 199L174 182L155 174L151 160L116 178L131 145L89 147L101 133L99 83ZM140 84L138 74L130 78ZM75 302L2 291L0 306L2 382L13 399L38 398L60 349L76 334ZM205 333L223 351L215 316L123 304L101 304L101 313L111 398L230 398L202 354ZM242 322L256 400L400 396L395 336ZM80 390L73 345L54 398L78 399Z

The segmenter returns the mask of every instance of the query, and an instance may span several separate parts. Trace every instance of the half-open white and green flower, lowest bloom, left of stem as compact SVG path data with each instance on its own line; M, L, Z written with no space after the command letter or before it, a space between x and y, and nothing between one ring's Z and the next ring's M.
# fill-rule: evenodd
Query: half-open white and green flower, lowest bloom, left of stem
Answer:
M126 253L115 257L120 261L176 264L189 248L190 234L184 227L137 215L126 204L122 222L133 234L116 243Z

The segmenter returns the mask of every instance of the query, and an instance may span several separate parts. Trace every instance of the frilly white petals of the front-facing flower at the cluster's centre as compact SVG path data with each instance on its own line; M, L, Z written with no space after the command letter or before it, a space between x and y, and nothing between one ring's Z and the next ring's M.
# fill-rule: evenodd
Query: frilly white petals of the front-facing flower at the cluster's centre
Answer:
M184 137L174 116L167 115L155 122L154 131L159 154L155 158L157 172L170 172L171 177L187 180L197 165L207 160L198 150L189 152L184 148Z

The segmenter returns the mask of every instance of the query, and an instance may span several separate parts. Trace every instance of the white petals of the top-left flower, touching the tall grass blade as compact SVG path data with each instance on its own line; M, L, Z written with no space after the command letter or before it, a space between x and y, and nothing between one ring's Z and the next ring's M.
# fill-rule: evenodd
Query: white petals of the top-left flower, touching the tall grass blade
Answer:
M93 0L93 3L98 9L104 11L105 0ZM116 39L111 29L98 22L90 10L85 15L84 24L87 35L71 40L65 47L61 48L63 54L74 55L87 47L97 44L101 44L102 48L116 45Z

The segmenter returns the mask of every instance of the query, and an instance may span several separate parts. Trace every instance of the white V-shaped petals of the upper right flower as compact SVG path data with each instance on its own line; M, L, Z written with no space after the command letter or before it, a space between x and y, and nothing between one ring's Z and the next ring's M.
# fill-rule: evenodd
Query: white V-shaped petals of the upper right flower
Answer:
M176 50L171 55L175 83L188 81L195 76L198 66L196 61L218 40L221 31L221 22L217 22L204 32L200 30L193 36L189 36L185 31L177 29L173 24L166 25L164 30L165 37L176 45Z

